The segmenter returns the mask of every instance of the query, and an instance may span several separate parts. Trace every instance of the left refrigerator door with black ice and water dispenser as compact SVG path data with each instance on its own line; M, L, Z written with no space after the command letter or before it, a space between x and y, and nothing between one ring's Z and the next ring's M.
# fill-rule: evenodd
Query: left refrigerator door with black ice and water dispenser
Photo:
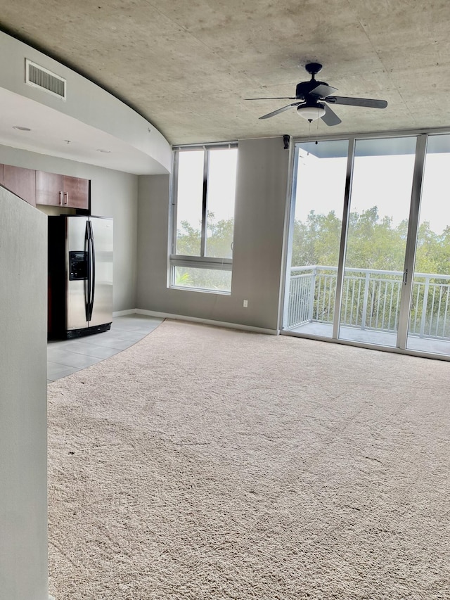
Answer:
M67 286L66 328L81 329L88 326L86 319L86 269L82 264L86 253L87 217L65 217L66 257L65 272Z

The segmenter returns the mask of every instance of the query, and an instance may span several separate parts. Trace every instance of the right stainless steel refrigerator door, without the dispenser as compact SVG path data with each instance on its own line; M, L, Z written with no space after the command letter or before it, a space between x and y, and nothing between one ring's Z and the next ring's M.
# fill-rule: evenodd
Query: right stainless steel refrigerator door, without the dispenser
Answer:
M113 219L90 217L94 237L94 305L89 326L113 321Z

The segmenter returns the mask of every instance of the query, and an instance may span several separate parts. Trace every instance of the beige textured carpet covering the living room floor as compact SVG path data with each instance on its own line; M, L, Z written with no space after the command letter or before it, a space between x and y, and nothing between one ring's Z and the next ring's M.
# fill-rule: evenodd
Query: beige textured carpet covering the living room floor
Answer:
M450 598L450 364L165 321L49 385L56 600Z

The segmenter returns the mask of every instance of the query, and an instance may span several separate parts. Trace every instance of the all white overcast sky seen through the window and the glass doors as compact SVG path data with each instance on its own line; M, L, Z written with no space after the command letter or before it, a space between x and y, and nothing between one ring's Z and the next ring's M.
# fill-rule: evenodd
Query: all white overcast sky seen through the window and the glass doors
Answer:
M214 212L216 221L233 217L237 152L210 152L208 208ZM347 158L317 158L302 149L300 155L296 218L304 221L310 210L317 214L334 210L336 216L342 218ZM198 228L203 150L180 153L180 158L178 223L186 220ZM378 206L380 217L392 217L393 226L408 219L413 163L413 154L356 156L351 210L361 212ZM437 234L450 225L450 152L427 155L420 208L420 222L424 220L430 222L432 231Z

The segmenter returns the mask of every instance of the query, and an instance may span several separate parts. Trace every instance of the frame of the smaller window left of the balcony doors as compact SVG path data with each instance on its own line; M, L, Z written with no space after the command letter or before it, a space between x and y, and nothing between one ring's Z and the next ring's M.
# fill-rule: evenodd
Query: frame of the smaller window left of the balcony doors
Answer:
M224 257L209 257L205 256L207 245L207 193L208 193L208 174L210 167L210 151L225 150L238 148L237 141L211 143L211 144L194 144L189 146L173 146L172 151L173 167L172 167L172 189L171 189L171 222L172 222L172 239L169 243L169 265L168 265L168 282L169 288L181 289L186 291L196 291L202 293L217 293L222 295L230 295L230 291L212 290L210 288L195 288L188 286L176 286L175 284L175 267L191 267L194 269L217 269L221 271L233 271L233 258ZM201 222L201 238L200 238L200 256L176 254L176 226L178 218L178 167L179 153L189 151L203 150L203 191L202 191L202 222ZM236 197L235 197L236 200ZM234 226L233 226L234 235Z

